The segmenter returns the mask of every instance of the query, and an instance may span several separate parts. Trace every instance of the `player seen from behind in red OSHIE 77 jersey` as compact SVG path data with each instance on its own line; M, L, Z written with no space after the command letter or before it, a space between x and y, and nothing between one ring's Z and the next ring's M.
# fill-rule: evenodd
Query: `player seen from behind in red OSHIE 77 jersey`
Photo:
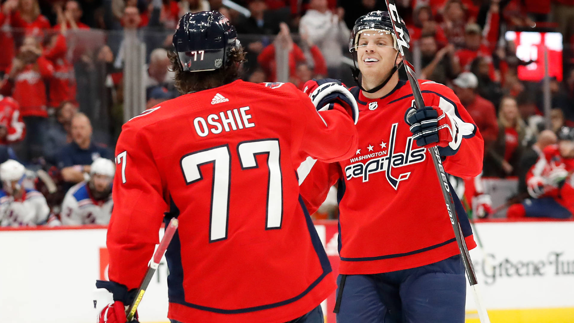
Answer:
M158 243L179 219L165 256L172 322L323 322L335 288L299 195L307 157L352 157L358 109L338 82L309 95L290 83L238 79L245 54L217 11L187 13L170 53L182 93L123 125L107 233L114 294L99 322L125 323Z

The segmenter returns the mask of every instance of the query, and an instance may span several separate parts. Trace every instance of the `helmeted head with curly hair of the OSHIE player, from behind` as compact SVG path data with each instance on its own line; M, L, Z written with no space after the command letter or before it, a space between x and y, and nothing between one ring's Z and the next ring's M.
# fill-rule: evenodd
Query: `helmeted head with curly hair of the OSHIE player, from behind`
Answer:
M187 13L168 52L181 94L212 89L239 78L245 52L229 20L218 11Z

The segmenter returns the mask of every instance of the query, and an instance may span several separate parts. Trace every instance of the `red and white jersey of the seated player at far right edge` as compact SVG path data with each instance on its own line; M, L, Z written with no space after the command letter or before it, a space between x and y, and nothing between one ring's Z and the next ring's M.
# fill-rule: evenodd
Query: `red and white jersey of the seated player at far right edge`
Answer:
M555 168L564 168L570 174L564 186L557 187L555 184L550 183L550 180L546 180ZM564 158L560 154L558 145L549 145L542 150L542 156L538 158L536 164L526 174L526 183L534 176L543 178L546 185L544 194L541 197L554 198L556 202L574 214L574 187L572 187L572 181L570 180L572 173L574 173L574 158Z

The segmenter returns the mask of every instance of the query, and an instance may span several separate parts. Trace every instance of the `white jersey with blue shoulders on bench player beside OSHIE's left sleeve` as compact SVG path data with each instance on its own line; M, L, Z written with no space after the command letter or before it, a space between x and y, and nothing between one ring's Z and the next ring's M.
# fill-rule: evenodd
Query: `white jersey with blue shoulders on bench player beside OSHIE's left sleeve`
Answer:
M110 222L113 206L111 194L106 199L96 200L91 196L88 182L80 182L66 193L60 221L63 225L106 225Z

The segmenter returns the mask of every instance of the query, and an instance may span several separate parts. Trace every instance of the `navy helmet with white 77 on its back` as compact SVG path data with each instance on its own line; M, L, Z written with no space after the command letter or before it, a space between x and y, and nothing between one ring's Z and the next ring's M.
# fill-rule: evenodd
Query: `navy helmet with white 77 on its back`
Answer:
M184 71L213 71L231 64L231 49L239 47L237 32L218 11L186 13L173 34L173 47Z

